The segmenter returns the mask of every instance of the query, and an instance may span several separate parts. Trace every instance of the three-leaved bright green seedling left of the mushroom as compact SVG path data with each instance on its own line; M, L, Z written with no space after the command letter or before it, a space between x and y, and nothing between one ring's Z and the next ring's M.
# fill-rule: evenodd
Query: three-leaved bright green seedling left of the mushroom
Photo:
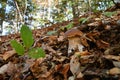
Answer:
M23 25L20 30L20 35L23 41L23 45L16 40L11 40L11 46L15 49L18 55L24 55L28 53L31 58L45 57L45 52L42 48L32 48L34 43L32 31L28 26Z

